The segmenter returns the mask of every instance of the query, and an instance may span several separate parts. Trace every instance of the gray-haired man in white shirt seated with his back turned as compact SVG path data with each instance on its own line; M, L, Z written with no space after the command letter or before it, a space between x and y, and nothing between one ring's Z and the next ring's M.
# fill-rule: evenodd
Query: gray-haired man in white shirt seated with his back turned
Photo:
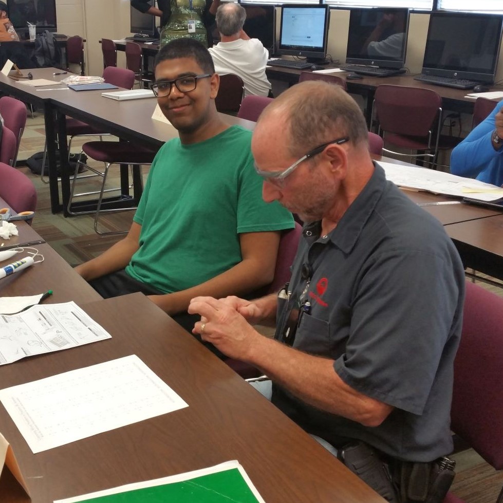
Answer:
M221 42L210 47L215 71L224 75L235 73L245 83L245 96L268 96L271 84L266 77L269 53L258 39L250 39L243 31L246 11L237 3L220 5L216 23Z

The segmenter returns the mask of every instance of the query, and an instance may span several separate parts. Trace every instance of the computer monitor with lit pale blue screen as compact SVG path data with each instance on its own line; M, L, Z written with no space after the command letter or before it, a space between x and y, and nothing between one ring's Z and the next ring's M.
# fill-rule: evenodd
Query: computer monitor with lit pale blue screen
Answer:
M277 54L304 56L312 63L324 62L329 18L328 5L282 5Z

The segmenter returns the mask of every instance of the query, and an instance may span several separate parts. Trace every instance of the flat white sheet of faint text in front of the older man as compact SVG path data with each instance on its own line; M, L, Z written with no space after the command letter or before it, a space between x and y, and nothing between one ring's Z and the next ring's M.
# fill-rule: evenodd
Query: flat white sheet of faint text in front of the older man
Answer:
M0 391L33 453L188 407L136 355Z

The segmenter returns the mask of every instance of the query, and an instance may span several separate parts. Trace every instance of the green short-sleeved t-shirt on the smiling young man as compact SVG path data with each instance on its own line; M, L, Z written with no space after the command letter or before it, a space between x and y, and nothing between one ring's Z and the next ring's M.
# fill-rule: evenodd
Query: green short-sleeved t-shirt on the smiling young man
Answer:
M241 261L239 233L293 228L287 210L262 199L250 143L250 131L231 126L161 147L134 217L140 248L127 274L165 293L184 290Z

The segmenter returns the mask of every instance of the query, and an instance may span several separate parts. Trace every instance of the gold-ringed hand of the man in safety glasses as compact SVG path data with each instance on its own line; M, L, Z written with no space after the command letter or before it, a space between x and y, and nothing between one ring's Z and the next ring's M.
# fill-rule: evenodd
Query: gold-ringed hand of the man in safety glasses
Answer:
M192 330L199 333L203 341L211 342L222 353L236 360L250 361L256 344L262 336L245 320L236 307L241 309L242 299L213 299L196 297L189 305L189 313L200 314L201 321ZM243 301L247 302L247 301ZM251 304L251 303L250 303Z

